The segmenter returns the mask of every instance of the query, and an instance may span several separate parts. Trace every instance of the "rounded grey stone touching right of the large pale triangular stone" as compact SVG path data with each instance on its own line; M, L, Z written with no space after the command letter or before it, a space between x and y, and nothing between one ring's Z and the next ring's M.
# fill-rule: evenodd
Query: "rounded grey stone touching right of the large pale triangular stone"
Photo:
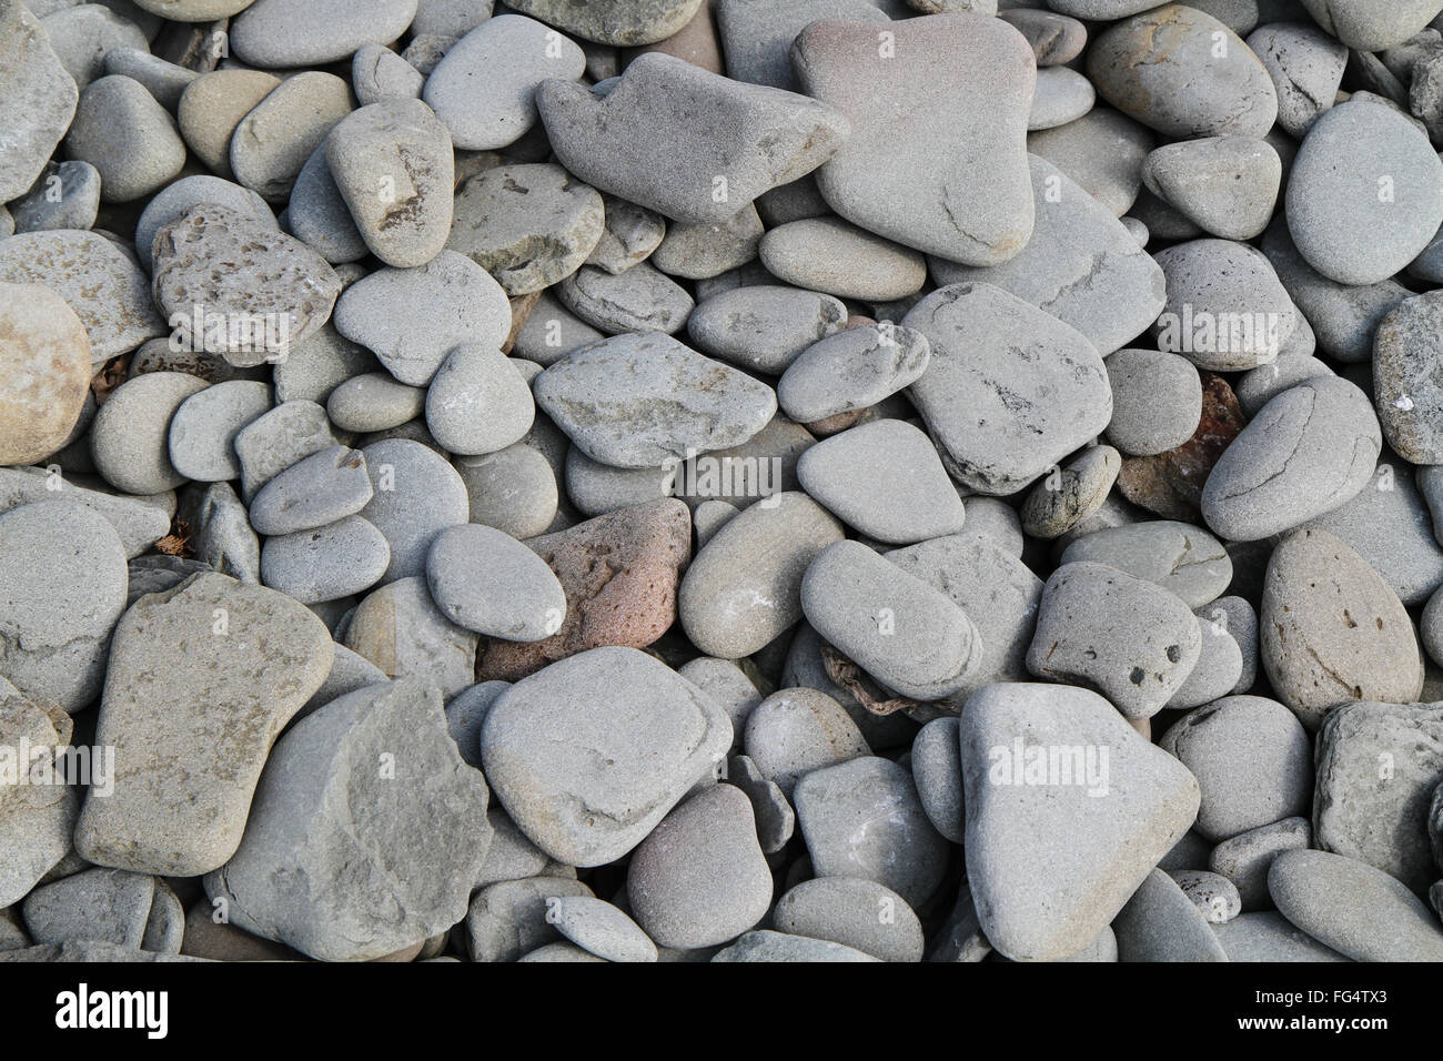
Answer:
M1222 697L1173 723L1159 746L1198 780L1196 829L1209 840L1228 840L1309 808L1307 733L1276 700Z

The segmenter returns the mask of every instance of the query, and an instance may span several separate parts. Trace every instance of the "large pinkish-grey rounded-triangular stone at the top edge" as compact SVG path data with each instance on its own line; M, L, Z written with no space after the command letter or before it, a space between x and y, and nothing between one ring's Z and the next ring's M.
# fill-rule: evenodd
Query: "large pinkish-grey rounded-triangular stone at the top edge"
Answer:
M814 23L792 45L801 91L851 126L817 170L823 198L906 247L973 266L1006 261L1032 234L1019 150L1036 81L1032 49L981 14L908 19L887 32L893 46L879 48L870 22Z

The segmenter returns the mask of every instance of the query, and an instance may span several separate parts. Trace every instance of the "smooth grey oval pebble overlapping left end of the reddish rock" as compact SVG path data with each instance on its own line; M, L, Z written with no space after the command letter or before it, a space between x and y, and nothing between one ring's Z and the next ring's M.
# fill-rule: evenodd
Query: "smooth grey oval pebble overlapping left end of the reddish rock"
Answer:
M437 534L426 577L446 618L486 637L541 641L566 616L566 592L547 563L491 527L465 524Z

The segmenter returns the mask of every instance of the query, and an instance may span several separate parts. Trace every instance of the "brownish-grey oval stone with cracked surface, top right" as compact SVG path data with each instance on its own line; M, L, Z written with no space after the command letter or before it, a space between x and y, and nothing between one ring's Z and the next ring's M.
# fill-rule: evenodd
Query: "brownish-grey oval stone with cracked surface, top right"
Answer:
M1088 49L1098 95L1166 136L1263 136L1277 91L1242 39L1211 14L1166 4L1118 22Z

